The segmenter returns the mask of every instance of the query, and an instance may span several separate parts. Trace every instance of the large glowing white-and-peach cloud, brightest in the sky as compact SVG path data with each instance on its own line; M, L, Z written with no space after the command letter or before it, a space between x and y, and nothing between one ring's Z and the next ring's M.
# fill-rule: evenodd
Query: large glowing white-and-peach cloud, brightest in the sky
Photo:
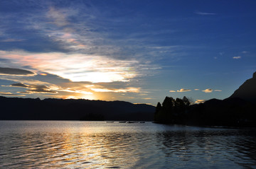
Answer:
M141 66L146 67L146 64L139 63L135 59L117 60L87 54L23 51L4 51L2 53L0 58L8 58L10 61L18 63L19 66L29 65L32 69L55 74L71 81L91 81L94 83L129 81L130 78L139 76L137 71ZM32 72L29 73L33 74Z

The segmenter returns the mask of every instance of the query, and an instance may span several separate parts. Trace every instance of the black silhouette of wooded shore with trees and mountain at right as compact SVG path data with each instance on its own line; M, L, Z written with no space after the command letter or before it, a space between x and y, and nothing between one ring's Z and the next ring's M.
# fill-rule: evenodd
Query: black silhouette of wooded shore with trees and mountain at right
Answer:
M154 121L164 124L256 127L256 72L229 98L211 99L191 105L183 99L166 97L158 103Z

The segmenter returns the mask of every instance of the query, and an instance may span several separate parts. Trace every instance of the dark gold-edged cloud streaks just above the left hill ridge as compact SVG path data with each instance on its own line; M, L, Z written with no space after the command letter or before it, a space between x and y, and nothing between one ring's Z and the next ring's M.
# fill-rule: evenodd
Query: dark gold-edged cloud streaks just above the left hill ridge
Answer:
M48 86L44 85L27 85L25 83L14 83L11 84L11 87L18 87L18 88L29 88L29 90L23 92L18 92L18 93L26 93L26 94L31 94L31 93L58 93L56 91L51 91L51 89Z

